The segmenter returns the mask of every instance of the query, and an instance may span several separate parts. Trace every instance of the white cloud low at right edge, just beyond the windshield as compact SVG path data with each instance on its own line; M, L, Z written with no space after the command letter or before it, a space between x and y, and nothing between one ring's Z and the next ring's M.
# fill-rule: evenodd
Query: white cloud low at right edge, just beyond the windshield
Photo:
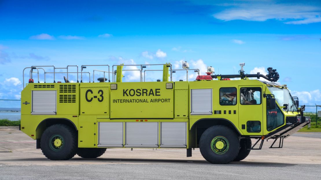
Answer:
M299 101L303 103L309 103L311 101L313 102L321 101L321 93L319 89L309 91L309 92L308 91L291 91L291 95L298 97Z

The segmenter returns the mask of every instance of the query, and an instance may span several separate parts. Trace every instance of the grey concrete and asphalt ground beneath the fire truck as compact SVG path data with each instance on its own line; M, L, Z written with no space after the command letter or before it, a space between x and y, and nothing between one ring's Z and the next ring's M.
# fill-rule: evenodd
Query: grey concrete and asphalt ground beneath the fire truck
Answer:
M252 150L240 162L210 164L198 149L107 149L97 159L48 160L16 127L0 127L0 179L320 179L321 133L296 133L283 148Z

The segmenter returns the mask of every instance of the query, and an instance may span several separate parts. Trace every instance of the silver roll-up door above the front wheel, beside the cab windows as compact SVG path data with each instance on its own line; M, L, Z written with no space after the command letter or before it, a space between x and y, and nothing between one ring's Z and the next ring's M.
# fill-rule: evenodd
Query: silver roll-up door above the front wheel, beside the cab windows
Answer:
M191 89L191 115L212 114L212 89Z

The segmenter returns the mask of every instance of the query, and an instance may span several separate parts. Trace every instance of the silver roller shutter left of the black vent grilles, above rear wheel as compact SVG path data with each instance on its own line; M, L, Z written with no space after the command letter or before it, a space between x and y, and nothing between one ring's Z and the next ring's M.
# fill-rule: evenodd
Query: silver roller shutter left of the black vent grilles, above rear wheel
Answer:
M56 114L56 91L32 91L31 114Z

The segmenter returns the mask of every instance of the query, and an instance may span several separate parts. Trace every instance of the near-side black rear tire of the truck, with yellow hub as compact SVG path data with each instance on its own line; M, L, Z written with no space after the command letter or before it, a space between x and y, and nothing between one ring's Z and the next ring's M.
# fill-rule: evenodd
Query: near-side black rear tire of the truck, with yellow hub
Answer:
M57 147L59 139L60 146ZM50 160L69 160L77 151L76 131L64 124L54 124L43 132L40 146L42 153Z

